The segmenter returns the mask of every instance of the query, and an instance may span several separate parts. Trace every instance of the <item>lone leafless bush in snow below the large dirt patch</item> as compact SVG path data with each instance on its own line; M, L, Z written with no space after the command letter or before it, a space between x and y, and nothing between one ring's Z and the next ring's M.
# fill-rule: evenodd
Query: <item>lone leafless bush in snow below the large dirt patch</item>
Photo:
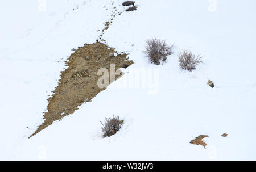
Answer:
M104 132L103 137L110 137L121 129L123 120L119 120L119 116L113 116L113 118L105 118L104 123L101 122L101 124L101 129Z

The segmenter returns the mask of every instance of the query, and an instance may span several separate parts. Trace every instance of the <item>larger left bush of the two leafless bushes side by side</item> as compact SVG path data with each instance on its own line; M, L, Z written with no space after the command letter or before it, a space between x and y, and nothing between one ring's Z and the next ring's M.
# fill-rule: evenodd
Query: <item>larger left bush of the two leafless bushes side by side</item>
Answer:
M151 39L146 41L146 57L149 58L151 63L160 65L161 62L165 62L168 55L172 54L172 47L166 44L166 41L159 39Z

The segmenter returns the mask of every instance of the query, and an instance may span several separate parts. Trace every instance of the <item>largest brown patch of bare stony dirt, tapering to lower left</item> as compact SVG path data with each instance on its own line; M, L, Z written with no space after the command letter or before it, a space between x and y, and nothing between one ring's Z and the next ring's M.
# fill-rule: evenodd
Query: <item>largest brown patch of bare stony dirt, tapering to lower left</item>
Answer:
M110 57L113 53L117 53L114 48L96 42L85 44L71 54L66 62L68 69L61 72L59 85L48 99L48 112L44 114L44 123L31 136L51 125L53 121L73 114L82 103L90 101L100 91L105 90L97 85L98 78L101 77L97 75L98 69L106 68L110 73L110 64L115 64L115 70L133 64L133 61L127 60L127 54ZM121 75L115 75L115 79L118 77Z

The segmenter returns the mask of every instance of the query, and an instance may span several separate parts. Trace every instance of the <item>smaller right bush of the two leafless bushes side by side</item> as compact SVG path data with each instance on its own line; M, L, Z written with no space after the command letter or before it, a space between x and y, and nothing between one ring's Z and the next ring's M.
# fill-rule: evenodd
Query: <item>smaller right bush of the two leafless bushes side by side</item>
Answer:
M203 56L195 56L190 51L184 50L179 54L179 66L181 69L194 70L196 66L202 62L201 58Z

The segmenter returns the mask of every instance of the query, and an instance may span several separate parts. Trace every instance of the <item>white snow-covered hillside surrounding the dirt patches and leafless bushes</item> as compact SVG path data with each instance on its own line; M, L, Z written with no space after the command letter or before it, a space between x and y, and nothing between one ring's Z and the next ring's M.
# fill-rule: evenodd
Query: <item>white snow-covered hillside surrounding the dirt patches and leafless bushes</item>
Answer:
M254 0L136 0L130 12L123 0L43 2L0 2L0 160L256 160ZM96 42L112 18L101 39L134 64L28 139L71 49ZM154 37L174 44L159 66L143 54ZM196 70L179 68L183 49L203 56ZM102 138L100 121L113 115L125 123ZM205 148L189 143L199 135Z

